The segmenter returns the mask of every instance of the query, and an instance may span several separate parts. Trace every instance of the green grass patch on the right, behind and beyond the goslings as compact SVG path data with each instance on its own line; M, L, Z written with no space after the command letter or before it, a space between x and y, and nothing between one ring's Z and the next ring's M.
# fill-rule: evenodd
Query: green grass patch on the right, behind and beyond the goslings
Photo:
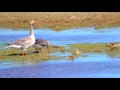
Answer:
M106 43L96 43L96 44L71 44L69 45L71 48L69 51L74 52L77 48L82 53L105 53L110 57L120 57L120 48L116 48L114 50L110 50L109 47L106 47Z

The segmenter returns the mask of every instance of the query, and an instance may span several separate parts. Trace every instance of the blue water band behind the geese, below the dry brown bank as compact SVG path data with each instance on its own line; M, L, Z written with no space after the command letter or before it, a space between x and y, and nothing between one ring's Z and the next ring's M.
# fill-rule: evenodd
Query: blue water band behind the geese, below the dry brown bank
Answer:
M34 30L36 38L43 38L53 45L67 45L73 43L109 43L119 42L120 27L95 30L94 27L78 28L63 31L53 31L50 29ZM10 29L0 29L0 42L11 42L29 35L29 30L13 31ZM6 37L7 36L7 37Z

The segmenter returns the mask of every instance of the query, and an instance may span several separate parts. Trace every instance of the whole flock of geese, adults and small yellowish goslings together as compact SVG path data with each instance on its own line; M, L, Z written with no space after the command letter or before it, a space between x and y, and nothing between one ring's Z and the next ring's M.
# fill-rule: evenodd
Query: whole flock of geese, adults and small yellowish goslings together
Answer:
M30 34L28 37L21 38L17 41L11 42L8 44L6 48L19 48L22 50L22 56L25 56L27 48L33 46L36 49L36 52L41 52L42 48L47 47L49 53L50 53L50 43L47 40L43 40L41 38L35 39L33 28L34 24L36 24L37 21L31 20L30 22ZM120 47L120 43L112 43L107 44L107 47L110 47L111 50ZM81 55L81 52L76 49L74 53L72 53L71 56L66 56L66 59L74 60L75 55Z

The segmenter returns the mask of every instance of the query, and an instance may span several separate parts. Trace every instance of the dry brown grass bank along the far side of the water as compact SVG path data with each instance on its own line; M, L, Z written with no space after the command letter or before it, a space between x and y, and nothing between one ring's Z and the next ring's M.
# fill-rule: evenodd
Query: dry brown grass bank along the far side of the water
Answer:
M0 27L28 29L32 19L39 21L37 28L53 30L120 26L119 12L0 12Z

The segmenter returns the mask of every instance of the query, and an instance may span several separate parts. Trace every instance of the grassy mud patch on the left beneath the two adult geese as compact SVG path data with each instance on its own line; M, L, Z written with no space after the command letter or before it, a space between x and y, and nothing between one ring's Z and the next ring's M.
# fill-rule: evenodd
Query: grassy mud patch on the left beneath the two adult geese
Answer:
M63 47L58 46L51 46L50 47L50 54L54 52L61 52L63 50ZM61 57L59 56L52 56L48 53L46 48L42 49L41 53L34 53L35 49L33 47L28 48L26 51L25 56L21 56L21 50L9 48L7 50L1 50L0 51L0 60L14 60L14 61L24 61L24 60L30 60L30 61L39 61L39 60L58 60Z

